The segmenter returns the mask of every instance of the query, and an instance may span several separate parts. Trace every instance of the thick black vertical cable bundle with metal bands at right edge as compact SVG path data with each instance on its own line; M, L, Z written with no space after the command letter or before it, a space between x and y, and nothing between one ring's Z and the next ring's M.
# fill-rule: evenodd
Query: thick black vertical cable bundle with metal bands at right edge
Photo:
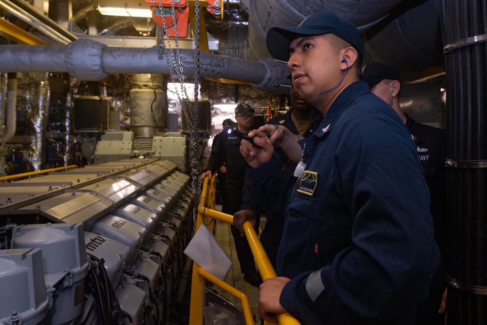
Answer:
M440 0L444 45L487 34L487 0ZM445 54L448 324L487 325L487 43ZM472 289L479 289L473 292Z

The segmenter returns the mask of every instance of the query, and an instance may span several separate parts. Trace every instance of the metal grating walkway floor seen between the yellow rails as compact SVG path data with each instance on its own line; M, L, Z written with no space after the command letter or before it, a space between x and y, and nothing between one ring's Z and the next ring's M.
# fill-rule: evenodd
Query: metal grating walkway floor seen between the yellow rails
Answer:
M250 307L252 308L252 314L254 315L255 324L260 325L261 320L259 318L259 313L257 309L259 301L259 289L257 287L251 286L249 283L244 281L244 275L240 272L240 264L237 258L237 251L235 250L233 236L230 231L230 225L221 221L215 221L215 236L220 241L223 248L230 255L233 261L232 267L230 268L230 271L226 276L225 282L247 295L250 302ZM240 302L240 300L236 299L219 287L217 287L217 289L222 295L227 297L230 301L234 302L236 306L242 308L242 303Z

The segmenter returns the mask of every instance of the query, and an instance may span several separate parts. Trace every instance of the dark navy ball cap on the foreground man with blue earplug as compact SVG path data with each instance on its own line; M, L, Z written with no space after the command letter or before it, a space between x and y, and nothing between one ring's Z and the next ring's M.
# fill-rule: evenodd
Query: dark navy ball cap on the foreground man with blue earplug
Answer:
M323 11L304 19L298 27L271 27L265 42L270 55L278 60L289 60L289 45L301 36L316 36L332 33L349 42L360 57L364 57L364 44L357 28L347 19Z

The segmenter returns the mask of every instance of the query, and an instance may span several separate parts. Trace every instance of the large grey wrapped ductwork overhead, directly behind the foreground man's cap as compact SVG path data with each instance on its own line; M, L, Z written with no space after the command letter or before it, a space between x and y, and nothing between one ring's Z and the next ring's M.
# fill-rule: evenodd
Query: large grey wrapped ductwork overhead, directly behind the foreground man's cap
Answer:
M391 64L405 75L405 80L443 71L438 0L251 1L250 57L254 60L270 57L265 45L270 27L295 27L320 11L332 11L357 26L365 44L364 63Z

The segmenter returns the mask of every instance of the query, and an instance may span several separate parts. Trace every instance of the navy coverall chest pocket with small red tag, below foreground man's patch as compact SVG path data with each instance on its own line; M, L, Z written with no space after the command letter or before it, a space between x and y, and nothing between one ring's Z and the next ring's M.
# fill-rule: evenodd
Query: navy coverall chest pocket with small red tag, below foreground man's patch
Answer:
M286 216L284 263L299 272L313 269L319 254L319 215L321 199L293 193Z

